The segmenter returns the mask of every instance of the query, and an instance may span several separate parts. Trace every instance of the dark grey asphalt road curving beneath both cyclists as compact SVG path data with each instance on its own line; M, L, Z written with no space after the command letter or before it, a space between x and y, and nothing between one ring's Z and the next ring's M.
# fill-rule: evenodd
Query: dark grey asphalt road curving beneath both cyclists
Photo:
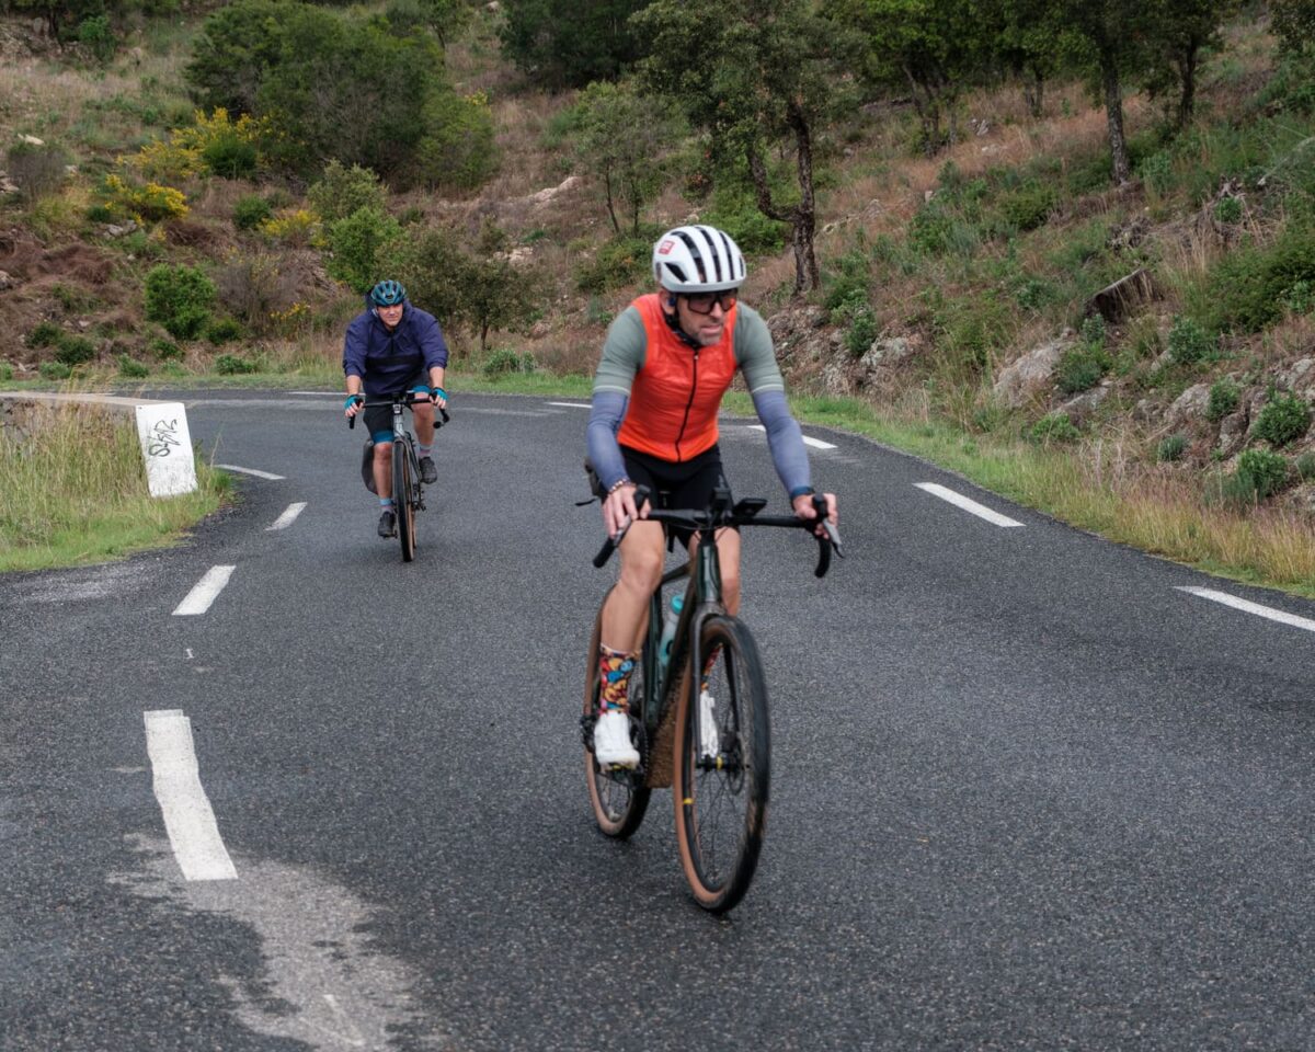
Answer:
M404 564L335 396L185 398L283 477L179 548L0 579L4 1052L1315 1048L1315 604L806 429L848 558L747 535L772 810L718 920L669 793L629 844L589 814L583 409L458 393ZM748 423L736 493L781 508ZM189 777L229 878L166 828Z

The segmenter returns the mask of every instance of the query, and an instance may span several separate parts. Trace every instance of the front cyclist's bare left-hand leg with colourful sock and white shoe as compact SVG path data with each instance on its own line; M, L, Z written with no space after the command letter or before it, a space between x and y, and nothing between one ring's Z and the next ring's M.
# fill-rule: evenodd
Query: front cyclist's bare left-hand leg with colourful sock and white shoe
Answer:
M594 725L594 757L600 764L635 767L639 752L630 740L630 675L648 619L648 600L661 580L664 534L656 522L636 522L618 550L621 576L602 606L598 647L602 711Z

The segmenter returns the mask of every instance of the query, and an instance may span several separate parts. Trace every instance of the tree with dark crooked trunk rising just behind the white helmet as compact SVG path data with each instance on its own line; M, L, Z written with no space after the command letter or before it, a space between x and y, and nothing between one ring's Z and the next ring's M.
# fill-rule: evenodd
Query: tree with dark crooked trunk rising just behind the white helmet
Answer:
M654 0L633 24L650 42L643 85L681 107L722 156L747 166L759 210L790 224L796 295L817 288L814 135L852 101L848 38L811 0ZM793 154L798 197L789 203L773 192L772 149Z

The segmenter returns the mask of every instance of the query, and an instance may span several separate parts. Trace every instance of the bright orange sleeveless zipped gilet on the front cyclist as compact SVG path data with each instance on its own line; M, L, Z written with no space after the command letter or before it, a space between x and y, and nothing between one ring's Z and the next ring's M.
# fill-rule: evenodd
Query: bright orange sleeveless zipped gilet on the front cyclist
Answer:
M689 460L717 443L717 410L735 379L735 308L726 314L721 341L696 350L667 326L656 292L634 306L648 347L617 441L663 460Z

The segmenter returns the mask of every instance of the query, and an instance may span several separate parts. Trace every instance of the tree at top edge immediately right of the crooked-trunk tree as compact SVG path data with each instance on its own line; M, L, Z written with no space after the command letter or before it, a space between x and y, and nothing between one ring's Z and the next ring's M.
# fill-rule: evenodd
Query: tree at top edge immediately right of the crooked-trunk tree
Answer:
M952 143L959 93L989 60L998 28L982 18L990 9L973 0L831 0L826 11L864 34L869 83L909 88L926 155ZM947 113L951 124L943 132Z

